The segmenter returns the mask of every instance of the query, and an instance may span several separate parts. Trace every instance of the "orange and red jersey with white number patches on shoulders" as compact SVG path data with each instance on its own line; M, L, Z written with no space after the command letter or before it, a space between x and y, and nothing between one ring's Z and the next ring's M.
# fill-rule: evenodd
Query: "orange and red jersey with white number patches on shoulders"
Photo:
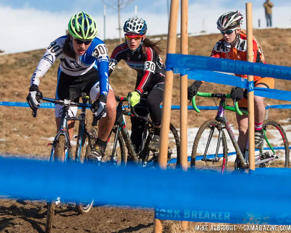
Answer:
M247 61L246 35L239 34L237 43L233 47L231 47L230 44L225 42L225 40L222 38L214 46L210 57ZM253 62L266 64L265 61L262 60L262 52L260 48L258 47L257 42L254 39L253 39ZM239 74L235 74L235 75L238 77L245 78L245 79L247 78L247 75L239 75ZM261 78L260 76L254 76L254 81L260 78Z

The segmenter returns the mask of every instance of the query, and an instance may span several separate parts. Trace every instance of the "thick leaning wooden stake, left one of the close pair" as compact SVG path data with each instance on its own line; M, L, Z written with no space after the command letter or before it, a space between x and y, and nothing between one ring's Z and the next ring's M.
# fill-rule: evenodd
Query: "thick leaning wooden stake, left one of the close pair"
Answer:
M179 0L171 0L170 22L169 22L168 40L167 40L167 53L176 53L178 9L179 9ZM174 79L173 71L172 70L166 71L164 95L163 95L162 122L161 122L161 131L160 131L161 141L160 141L160 151L159 151L159 159L158 159L159 167L162 169L167 168L173 79ZM154 220L154 233L162 233L162 229L163 229L162 220L155 219Z

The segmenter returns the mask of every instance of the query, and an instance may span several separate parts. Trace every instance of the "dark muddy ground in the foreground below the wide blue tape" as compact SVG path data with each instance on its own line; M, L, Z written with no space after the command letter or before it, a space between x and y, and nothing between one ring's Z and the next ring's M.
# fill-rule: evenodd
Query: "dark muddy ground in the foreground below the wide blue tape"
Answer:
M5 233L40 233L44 232L46 222L47 205L45 202L20 201L17 199L2 199L0 201L0 232ZM87 214L78 214L74 205L67 205L65 209L56 209L54 216L53 232L55 233L81 233L81 232L111 232L129 233L153 232L154 212L151 209L129 208L126 206L98 206ZM180 221L163 221L164 233L194 233L194 232L246 232L243 226L228 224L232 230L211 231L211 225L217 229L217 225L226 223L201 223L189 222L188 229L183 230ZM197 231L195 225L207 225L207 230ZM240 230L238 230L240 228ZM231 229L231 228L230 228ZM252 231L258 232L258 231ZM262 233L275 231L260 231ZM282 231L287 232L287 231Z

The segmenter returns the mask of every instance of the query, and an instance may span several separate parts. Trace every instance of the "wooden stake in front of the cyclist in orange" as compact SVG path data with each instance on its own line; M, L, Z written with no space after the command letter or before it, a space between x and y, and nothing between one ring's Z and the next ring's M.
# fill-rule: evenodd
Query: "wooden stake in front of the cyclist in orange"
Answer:
M253 62L253 25L252 3L246 3L246 48L249 62ZM248 84L253 81L253 75L248 75ZM252 86L253 87L253 86ZM249 170L255 170L255 123L254 123L254 93L248 92L249 120Z

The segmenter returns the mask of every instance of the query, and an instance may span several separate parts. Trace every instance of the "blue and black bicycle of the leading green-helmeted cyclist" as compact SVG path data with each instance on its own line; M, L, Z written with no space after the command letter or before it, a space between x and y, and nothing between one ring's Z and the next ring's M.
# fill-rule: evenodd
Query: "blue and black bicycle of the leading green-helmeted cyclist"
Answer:
M68 99L65 100L58 100L58 99L52 99L52 98L41 98L42 100L45 100L50 103L63 105L63 110L61 112L61 121L58 133L54 137L54 140L52 143L49 143L47 146L51 145L51 155L49 158L50 162L57 162L61 163L62 158L64 156L64 163L67 162L75 162L75 163L86 163L87 162L87 156L90 153L93 148L93 144L95 140L97 139L97 130L94 127L87 126L85 124L86 121L86 108L90 108L92 105L92 100L89 96L86 96L86 93L81 93L81 96L83 103L75 103L71 102ZM40 101L40 94L36 94L36 99ZM89 104L87 104L89 102ZM81 107L81 114L79 116L69 116L69 107L70 106L77 106ZM37 116L37 109L33 110L32 112L33 117ZM78 135L75 137L77 138L77 146L76 146L76 153L75 158L73 160L72 156L72 146L70 143L70 138L68 135L68 120L72 121L80 121L79 123L79 129L78 129ZM95 119L94 119L95 120ZM87 142L88 141L88 142ZM85 154L83 153L83 147L84 144L87 143ZM77 202L76 207L78 209L78 212L88 213L93 206L94 200L90 200L89 202ZM56 200L49 200L48 201L48 210L47 210L47 221L45 226L45 232L49 233L52 232L52 222L54 217L54 211L56 208L56 205L61 203L61 208L63 208L64 201L60 199L60 197L57 197Z

